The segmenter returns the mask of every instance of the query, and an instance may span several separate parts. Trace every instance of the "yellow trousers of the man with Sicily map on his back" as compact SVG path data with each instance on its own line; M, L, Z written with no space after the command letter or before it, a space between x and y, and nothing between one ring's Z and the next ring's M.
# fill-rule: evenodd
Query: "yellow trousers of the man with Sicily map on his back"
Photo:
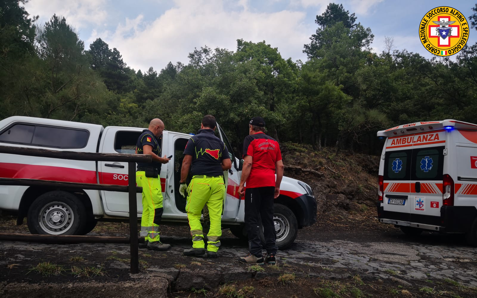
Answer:
M218 251L222 236L221 215L224 204L225 183L223 176L196 175L188 187L187 218L189 219L192 247L204 248L204 233L200 223L200 214L207 204L210 217L210 229L207 233L207 250Z

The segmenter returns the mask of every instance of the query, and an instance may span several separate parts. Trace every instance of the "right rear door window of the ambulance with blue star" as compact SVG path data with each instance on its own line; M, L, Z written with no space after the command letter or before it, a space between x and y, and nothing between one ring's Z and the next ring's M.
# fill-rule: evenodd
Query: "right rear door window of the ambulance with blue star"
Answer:
M442 180L444 147L414 149L413 180Z

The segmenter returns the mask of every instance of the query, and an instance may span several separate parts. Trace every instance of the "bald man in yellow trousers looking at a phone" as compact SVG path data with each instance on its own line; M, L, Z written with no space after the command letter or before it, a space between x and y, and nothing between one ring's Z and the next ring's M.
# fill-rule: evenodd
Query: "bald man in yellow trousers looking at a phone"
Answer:
M169 159L161 155L161 140L164 123L161 119L152 119L149 128L144 129L136 143L136 154L152 155L152 162L138 162L136 184L143 188L143 216L141 218L141 237L145 238L145 245L141 248L149 250L167 250L170 244L159 240L159 223L162 218L162 190L159 173L161 165Z

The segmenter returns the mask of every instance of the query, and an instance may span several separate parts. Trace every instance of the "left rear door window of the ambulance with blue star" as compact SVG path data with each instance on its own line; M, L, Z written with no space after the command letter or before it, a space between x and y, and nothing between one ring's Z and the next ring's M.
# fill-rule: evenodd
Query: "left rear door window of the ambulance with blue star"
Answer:
M385 155L384 180L409 180L408 162L412 150L388 151Z

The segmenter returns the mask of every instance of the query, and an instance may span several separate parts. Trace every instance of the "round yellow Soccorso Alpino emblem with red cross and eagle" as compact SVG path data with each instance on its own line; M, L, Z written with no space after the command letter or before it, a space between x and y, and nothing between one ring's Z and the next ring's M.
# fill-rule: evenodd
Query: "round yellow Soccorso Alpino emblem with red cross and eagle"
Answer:
M466 17L452 7L429 10L419 24L419 38L426 50L437 56L458 53L469 38Z

